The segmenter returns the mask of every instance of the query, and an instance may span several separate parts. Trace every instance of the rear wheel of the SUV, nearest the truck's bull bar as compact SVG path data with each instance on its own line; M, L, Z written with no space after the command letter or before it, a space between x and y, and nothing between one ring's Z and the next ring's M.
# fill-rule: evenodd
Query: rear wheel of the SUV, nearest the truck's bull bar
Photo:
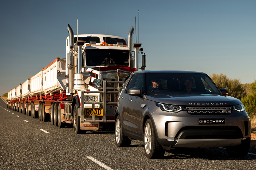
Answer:
M124 135L120 117L117 116L115 124L115 141L117 147L128 147L131 145L132 140Z

